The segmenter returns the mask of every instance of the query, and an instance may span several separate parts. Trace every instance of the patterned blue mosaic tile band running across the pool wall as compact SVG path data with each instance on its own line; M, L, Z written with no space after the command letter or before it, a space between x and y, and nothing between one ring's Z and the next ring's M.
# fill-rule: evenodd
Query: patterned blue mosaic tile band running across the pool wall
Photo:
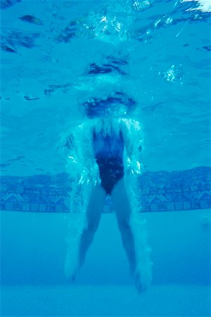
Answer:
M211 208L211 168L144 173L139 178L140 211L181 211ZM65 173L20 178L1 177L2 211L68 213L65 199L71 183ZM142 207L141 207L142 205ZM107 197L104 213L113 211Z

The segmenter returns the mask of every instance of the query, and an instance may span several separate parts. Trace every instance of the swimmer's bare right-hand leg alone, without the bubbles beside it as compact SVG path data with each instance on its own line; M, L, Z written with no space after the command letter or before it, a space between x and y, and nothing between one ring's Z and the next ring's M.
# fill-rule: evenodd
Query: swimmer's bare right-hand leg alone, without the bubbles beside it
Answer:
M115 185L113 192L111 193L111 199L113 201L118 227L122 236L122 244L129 260L130 272L133 275L136 268L136 254L134 235L132 228L129 225L131 210L123 179L119 180Z

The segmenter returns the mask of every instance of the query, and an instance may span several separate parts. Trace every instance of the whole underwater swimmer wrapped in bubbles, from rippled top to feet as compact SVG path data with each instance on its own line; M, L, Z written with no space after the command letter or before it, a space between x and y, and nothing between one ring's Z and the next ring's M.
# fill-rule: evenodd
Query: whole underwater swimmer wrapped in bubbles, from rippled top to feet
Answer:
M65 275L75 280L110 195L130 272L137 290L143 292L151 283L152 263L136 185L136 175L141 173L141 128L138 121L125 118L134 101L115 92L83 106L87 122L73 128L63 143L73 180Z

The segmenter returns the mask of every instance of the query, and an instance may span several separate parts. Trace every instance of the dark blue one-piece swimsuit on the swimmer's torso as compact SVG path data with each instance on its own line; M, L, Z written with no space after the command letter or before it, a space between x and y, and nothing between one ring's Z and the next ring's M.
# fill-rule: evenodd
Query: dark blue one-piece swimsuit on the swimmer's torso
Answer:
M103 131L93 135L94 155L98 163L101 186L110 194L115 184L124 176L122 132L104 135Z

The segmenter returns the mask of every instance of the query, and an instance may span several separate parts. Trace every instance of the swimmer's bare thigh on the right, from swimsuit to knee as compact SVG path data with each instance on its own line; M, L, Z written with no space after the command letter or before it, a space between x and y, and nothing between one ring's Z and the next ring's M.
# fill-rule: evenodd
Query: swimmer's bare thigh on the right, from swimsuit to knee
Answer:
M111 199L119 223L125 223L126 220L129 221L131 208L129 203L129 197L127 194L127 189L125 187L124 178L119 180L113 188L113 191L111 193Z

